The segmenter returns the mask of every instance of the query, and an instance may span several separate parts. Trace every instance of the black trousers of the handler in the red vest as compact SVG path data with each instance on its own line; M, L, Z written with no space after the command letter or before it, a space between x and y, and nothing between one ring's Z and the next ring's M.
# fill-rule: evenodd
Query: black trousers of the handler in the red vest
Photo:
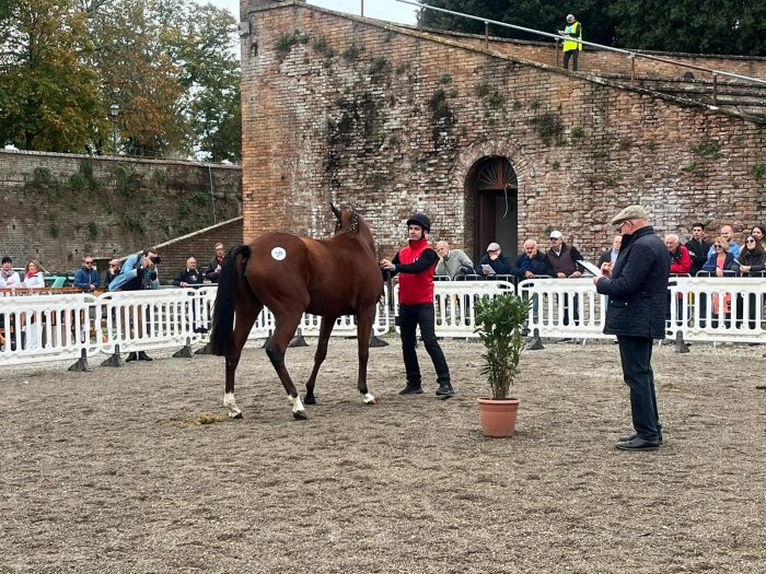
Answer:
M420 386L420 365L418 354L415 351L415 330L420 327L422 342L426 351L431 356L433 368L437 371L437 382L439 385L450 383L450 368L446 366L444 353L439 347L437 335L433 331L434 314L433 304L423 305L399 305L399 330L402 331L402 353L404 354L404 367L407 371L407 385L411 387Z

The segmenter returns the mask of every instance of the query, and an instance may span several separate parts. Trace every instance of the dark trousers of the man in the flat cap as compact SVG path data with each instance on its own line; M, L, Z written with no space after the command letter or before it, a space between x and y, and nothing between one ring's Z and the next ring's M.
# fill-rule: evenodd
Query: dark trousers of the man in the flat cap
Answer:
M623 378L630 387L630 411L636 434L645 441L658 441L662 425L657 411L654 372L651 368L653 341L648 337L618 335Z

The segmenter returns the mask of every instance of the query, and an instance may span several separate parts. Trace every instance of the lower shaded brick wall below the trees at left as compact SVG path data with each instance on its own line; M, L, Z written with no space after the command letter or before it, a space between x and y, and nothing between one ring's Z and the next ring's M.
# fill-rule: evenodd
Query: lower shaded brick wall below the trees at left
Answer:
M0 151L0 253L67 271L207 227L210 175L217 221L241 215L240 166Z

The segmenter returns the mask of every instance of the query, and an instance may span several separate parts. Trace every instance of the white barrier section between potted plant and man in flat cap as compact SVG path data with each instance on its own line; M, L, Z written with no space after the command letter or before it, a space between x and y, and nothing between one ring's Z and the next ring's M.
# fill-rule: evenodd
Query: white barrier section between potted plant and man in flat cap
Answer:
M604 335L605 295L595 291L591 277L525 279L519 295L531 297L530 333L547 338L611 339Z

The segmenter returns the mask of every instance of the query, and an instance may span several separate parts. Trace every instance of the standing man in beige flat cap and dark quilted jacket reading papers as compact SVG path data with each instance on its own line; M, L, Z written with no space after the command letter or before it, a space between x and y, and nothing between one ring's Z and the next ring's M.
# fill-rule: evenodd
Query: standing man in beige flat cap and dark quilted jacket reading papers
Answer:
M612 219L623 234L619 256L611 271L604 266L605 274L593 278L596 291L610 297L604 332L617 336L623 378L630 387L636 433L617 442L622 450L662 444L651 352L652 340L665 337L670 254L647 220L641 206L628 206Z

